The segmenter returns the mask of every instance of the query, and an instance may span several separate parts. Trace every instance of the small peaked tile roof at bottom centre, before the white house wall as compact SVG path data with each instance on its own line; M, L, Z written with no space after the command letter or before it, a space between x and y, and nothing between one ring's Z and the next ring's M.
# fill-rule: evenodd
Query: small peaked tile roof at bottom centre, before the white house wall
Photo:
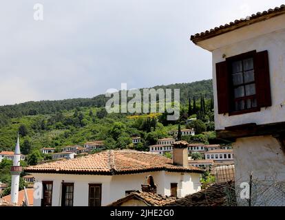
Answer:
M122 199L114 201L108 206L120 206L126 201L129 201L131 199L138 199L140 201L143 201L147 206L165 206L168 203L176 201L176 197L162 196L154 192L136 191L132 192L130 195L127 195L126 197L123 197Z

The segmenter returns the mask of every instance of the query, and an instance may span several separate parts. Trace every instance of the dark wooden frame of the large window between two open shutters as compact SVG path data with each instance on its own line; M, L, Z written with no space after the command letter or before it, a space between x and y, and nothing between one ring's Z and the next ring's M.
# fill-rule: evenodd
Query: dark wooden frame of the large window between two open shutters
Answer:
M258 96L258 89L257 89L257 82L256 82L256 72L255 72L255 65L254 65L254 56L256 54L256 50L253 50L251 52L246 52L246 53L243 53L243 54L239 54L237 56L231 56L229 58L226 58L226 65L227 65L227 68L228 68L228 73L229 73L229 116L231 115L240 115L240 114L244 114L244 113L251 113L251 112L257 112L257 111L260 111L260 107L259 107L259 104L258 104L258 100L257 100L257 96ZM235 62L235 61L242 61L246 58L253 58L253 70L254 70L254 77L255 77L255 80L254 80L254 84L255 84L255 95L253 96L244 96L244 97L241 97L241 98L235 98L234 97L234 88L235 86L233 85L233 80L232 80L232 63ZM242 85L250 85L250 84L253 84L253 82L251 83L243 83ZM257 107L254 107L254 108L251 108L251 109L244 109L244 110L240 110L240 111L236 111L234 109L234 105L235 105L235 100L246 100L248 98L255 98L256 101L257 101Z

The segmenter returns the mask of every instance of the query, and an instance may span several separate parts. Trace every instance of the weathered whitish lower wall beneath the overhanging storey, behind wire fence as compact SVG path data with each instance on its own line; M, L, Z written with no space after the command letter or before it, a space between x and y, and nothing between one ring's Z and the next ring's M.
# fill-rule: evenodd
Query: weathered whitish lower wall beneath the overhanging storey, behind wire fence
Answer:
M271 135L239 138L233 144L235 155L235 188L239 205L240 184L253 178L253 206L285 206L285 149ZM281 187L281 188L279 188Z

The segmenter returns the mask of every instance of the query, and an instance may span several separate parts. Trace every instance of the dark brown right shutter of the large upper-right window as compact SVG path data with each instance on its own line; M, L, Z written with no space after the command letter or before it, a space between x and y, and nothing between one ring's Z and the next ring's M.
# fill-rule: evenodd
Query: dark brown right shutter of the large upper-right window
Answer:
M258 107L271 106L271 87L267 50L255 54L254 69Z

